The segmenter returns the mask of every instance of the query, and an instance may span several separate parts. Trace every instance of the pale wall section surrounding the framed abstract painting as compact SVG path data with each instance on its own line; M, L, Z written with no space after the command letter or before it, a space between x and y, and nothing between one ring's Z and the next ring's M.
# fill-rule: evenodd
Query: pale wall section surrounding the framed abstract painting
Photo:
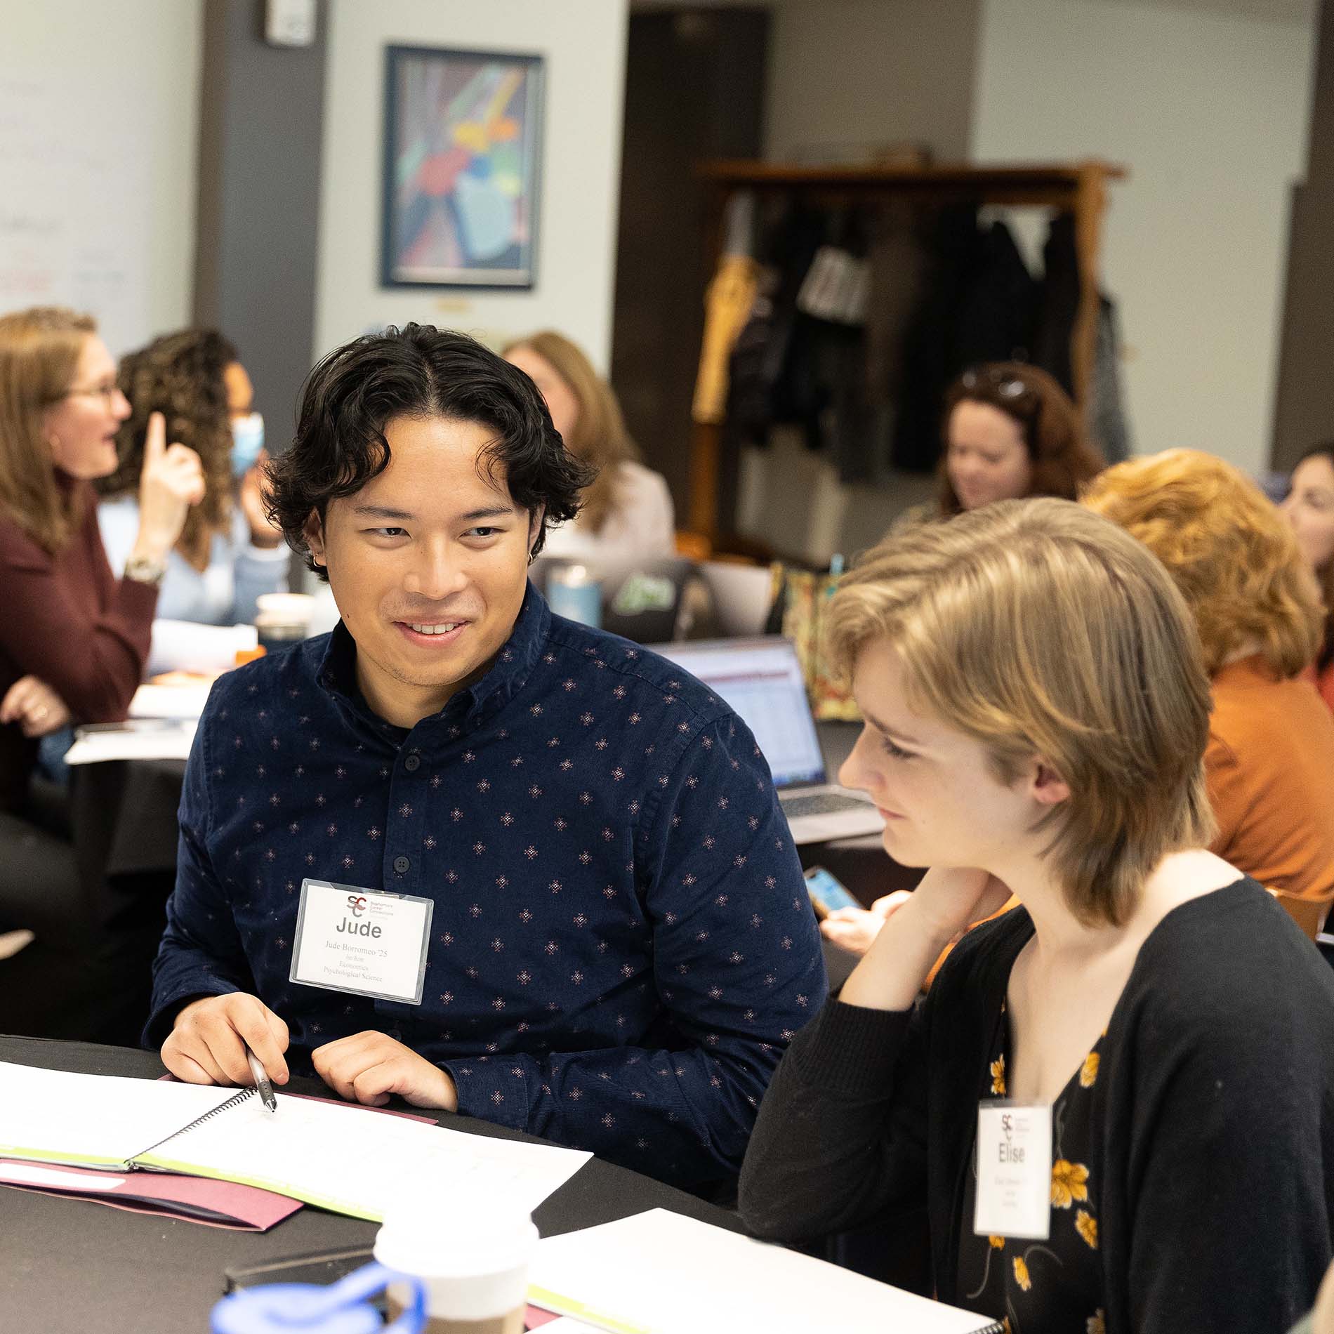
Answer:
M492 344L555 325L607 366L626 20L626 0L331 0L316 355L367 328L419 320ZM391 43L547 57L534 291L380 287L380 127Z

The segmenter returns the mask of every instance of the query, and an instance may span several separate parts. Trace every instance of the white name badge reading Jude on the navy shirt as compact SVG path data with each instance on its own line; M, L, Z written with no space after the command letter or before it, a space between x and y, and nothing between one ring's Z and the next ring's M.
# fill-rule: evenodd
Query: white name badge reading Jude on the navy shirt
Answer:
M431 899L301 880L291 982L422 1003Z

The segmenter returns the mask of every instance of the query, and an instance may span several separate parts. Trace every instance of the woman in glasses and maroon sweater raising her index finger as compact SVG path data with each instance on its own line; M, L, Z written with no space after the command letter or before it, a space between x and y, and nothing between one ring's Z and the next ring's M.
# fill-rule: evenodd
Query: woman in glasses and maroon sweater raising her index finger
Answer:
M92 480L116 467L129 404L88 315L0 316L0 828L20 811L39 742L71 722L125 716L148 656L157 584L189 508L199 456L157 415L123 579L97 532Z

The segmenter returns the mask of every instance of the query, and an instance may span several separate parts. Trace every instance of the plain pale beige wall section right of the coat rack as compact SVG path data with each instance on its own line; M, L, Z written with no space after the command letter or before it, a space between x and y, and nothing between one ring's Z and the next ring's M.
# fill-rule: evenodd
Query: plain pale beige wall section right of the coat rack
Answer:
M1247 470L1269 456L1314 60L1310 21L1274 12L986 3L972 156L1130 168L1111 192L1103 277L1139 452L1191 446Z

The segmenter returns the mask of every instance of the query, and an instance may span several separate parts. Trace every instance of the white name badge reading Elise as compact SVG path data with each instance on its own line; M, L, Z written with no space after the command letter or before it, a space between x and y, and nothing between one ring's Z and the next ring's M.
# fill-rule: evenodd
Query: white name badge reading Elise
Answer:
M972 1230L979 1237L1046 1241L1051 1231L1050 1105L979 1103L976 1166Z

